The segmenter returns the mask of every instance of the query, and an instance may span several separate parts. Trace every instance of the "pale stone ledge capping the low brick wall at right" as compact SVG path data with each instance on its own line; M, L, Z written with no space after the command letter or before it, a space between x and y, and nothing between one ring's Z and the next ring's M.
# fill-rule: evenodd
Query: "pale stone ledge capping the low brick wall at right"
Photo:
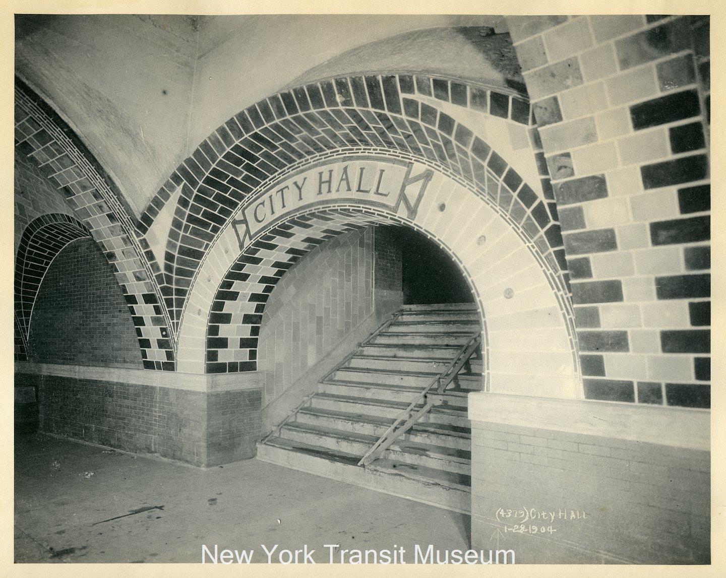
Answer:
M711 450L711 412L487 392L469 394L469 419L572 434Z

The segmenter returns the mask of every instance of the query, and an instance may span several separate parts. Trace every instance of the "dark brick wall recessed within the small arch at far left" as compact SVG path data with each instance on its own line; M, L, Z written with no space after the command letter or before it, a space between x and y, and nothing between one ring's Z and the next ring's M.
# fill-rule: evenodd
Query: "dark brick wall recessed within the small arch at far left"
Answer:
M57 255L38 291L30 359L41 363L142 367L129 307L93 239Z

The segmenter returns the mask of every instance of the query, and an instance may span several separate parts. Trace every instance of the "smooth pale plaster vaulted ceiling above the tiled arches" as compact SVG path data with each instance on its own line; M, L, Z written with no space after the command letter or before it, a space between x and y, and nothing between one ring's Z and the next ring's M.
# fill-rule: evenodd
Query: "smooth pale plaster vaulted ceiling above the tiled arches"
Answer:
M498 16L19 15L15 63L138 216L209 133L285 86L425 71L523 91L506 31Z

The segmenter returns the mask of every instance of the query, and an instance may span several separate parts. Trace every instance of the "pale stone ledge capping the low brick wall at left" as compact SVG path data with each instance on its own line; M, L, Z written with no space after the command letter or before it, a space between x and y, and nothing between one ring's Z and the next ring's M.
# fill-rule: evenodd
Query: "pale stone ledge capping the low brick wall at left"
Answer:
M261 389L262 376L258 371L245 373L179 373L148 369L66 366L58 363L15 362L15 373L30 373L96 381L115 381L125 384L184 389L192 392L228 392L240 389Z

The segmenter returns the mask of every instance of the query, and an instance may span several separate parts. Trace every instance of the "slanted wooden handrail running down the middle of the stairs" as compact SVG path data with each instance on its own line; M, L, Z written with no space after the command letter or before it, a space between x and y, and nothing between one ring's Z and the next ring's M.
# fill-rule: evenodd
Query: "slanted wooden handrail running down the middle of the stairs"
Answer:
M433 401L427 400L423 405L423 408L420 408L415 413L411 413L413 408L415 408L415 406L428 395L428 392L430 392L435 385L437 386L436 392L439 394L443 393L446 387L449 387L449 384L452 382L454 377L457 376L457 373L461 371L461 368L469 360L476 349L476 346L480 342L481 334L473 335L471 339L466 342L462 349L459 350L459 355L457 355L452 363L450 363L446 368L446 371L439 373L439 375L436 376L436 378L434 378L433 381L431 381L431 383L416 396L415 400L413 400L409 406L399 414L396 420L393 421L393 424L386 429L386 432L383 433L378 441L372 445L370 450L368 450L358 462L359 466L367 466L367 464L378 458L378 455L386 451L388 447L396 441L396 439L411 429L412 426L420 420L421 416L431 410L433 407ZM404 424L396 429L396 426L398 426L401 421L404 421L404 419L406 420Z

